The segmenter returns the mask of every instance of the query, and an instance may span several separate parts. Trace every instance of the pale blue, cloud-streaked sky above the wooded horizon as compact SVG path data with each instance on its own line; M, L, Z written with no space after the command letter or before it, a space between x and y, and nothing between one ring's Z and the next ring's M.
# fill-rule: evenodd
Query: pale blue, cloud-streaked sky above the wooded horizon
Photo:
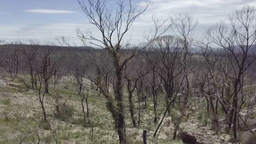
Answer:
M126 1L126 0L124 0ZM55 41L65 36L81 43L75 35L76 28L82 28L99 35L97 29L90 25L87 17L76 0L0 0L0 40L27 41L37 39L40 43ZM108 0L115 5L114 0ZM133 0L143 8L145 1ZM205 30L219 21L226 21L229 14L244 5L256 7L255 0L152 0L147 11L143 13L130 30L131 43L139 43L143 33L150 30L152 15L155 17L174 16L188 13L198 21L194 38L200 39ZM172 34L171 29L166 34Z

